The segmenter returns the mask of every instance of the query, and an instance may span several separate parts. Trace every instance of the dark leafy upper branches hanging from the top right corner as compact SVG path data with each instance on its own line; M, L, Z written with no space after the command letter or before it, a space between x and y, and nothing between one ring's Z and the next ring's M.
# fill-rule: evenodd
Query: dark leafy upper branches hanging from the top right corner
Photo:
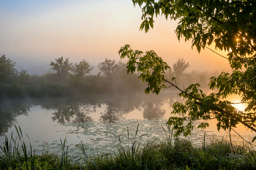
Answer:
M192 46L201 47L216 43L219 50L232 50L229 55L251 55L255 53L255 4L249 1L143 1L132 0L142 8L143 23L140 26L147 32L153 28L154 15L179 20L176 28L178 39L192 39ZM145 2L145 4L143 4ZM234 61L236 62L236 61ZM244 63L241 61L238 66Z

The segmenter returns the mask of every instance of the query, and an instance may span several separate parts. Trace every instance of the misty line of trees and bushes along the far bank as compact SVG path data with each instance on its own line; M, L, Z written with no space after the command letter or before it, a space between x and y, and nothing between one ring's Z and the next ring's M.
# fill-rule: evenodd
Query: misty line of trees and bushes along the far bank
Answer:
M180 60L180 59L179 59ZM182 59L183 60L183 59ZM178 64L178 61L177 61ZM178 85L185 83L186 86L199 82L206 86L208 73L179 72L178 65L167 72L167 77L178 77ZM127 64L105 59L97 66L100 72L91 75L94 67L85 60L79 63L69 63L68 58L58 58L50 62L52 68L41 76L26 73L26 70L18 72L15 69L15 62L1 55L0 58L0 97L17 96L80 96L86 94L102 93L131 93L142 92L146 88L138 79L139 73L127 74Z

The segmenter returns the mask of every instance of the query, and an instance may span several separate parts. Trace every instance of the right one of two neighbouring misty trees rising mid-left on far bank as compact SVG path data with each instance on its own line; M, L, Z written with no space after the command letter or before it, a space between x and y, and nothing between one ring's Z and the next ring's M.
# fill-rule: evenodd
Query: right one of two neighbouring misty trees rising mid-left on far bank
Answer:
M78 80L86 76L86 74L89 74L92 69L94 69L94 67L90 66L89 63L86 62L85 60L80 61L79 63L75 63L75 66L72 66L72 72L77 77L75 81L75 85L78 85Z

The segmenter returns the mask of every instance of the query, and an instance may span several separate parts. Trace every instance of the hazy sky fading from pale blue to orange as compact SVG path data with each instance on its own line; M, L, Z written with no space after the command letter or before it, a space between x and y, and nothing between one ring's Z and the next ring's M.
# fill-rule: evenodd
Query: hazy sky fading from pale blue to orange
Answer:
M189 71L229 70L227 59L179 42L177 21L159 16L154 29L140 31L141 14L132 0L0 0L0 55L19 71L42 74L61 56L70 63L85 59L95 68L105 58L120 61L118 50L128 44L144 53L154 50L170 67L184 58Z

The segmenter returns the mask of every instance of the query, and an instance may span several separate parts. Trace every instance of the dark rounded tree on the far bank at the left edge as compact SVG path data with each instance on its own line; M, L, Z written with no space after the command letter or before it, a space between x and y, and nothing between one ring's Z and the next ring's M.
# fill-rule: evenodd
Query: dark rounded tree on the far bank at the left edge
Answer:
M0 85L10 84L17 77L18 71L14 68L15 62L1 55L0 58Z

